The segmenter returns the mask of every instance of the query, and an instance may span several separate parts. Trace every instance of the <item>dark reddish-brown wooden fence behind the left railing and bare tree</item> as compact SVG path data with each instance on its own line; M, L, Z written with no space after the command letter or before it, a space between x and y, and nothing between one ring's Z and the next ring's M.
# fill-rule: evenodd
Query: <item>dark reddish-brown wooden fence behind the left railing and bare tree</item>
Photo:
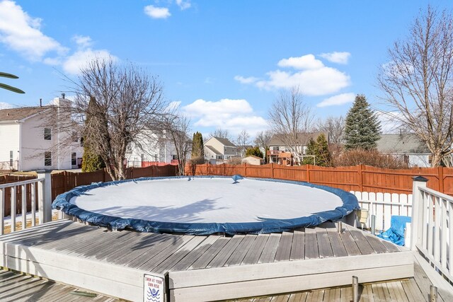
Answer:
M178 174L178 166L176 165L162 165L162 166L150 166L147 168L127 168L126 178L145 178L145 177L161 177L161 176L176 176ZM36 178L36 176L11 176L11 175L1 175L0 176L0 185L19 182L23 180L30 180ZM58 194L62 194L71 190L74 187L79 185L90 185L91 182L108 182L111 181L110 175L108 175L105 169L97 170L95 172L86 172L86 173L74 173L68 171L62 171L59 173L52 173L52 200L57 197ZM35 188L35 190L37 190ZM35 192L37 194L37 192ZM27 185L25 194L27 194L27 211L31 210L31 187ZM36 195L35 195L36 196ZM11 200L11 190L10 188L5 189L5 199ZM18 190L16 192L16 214L21 214L21 200L22 192ZM5 202L4 204L4 216L9 216L11 214L11 202Z

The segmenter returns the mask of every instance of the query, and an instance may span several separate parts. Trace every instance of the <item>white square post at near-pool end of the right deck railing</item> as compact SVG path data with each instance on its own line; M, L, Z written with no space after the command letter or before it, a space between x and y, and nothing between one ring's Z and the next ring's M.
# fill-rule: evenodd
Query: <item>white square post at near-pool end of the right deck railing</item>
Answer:
M412 218L411 218L411 250L416 250L415 245L420 242L423 232L423 193L419 187L426 187L427 178L415 176L412 178Z

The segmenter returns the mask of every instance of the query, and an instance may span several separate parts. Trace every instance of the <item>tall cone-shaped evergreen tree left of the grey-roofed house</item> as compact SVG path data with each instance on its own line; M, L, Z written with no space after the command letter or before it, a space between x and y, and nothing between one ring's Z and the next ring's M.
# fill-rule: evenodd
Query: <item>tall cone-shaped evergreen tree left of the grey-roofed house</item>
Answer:
M380 132L381 124L369 108L367 98L365 98L365 95L357 95L346 116L345 148L376 149Z

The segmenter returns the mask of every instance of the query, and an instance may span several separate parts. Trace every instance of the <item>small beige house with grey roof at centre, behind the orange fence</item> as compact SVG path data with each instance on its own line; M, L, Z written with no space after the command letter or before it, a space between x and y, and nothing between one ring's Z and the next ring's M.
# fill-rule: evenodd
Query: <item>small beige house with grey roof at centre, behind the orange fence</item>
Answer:
M228 139L211 137L205 141L205 159L210 163L224 163L238 156L237 146Z

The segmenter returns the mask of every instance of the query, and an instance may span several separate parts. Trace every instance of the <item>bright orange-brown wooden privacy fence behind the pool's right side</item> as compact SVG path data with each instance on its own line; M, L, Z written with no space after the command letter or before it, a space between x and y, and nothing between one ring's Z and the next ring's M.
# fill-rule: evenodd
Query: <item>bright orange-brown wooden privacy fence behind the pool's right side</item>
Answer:
M367 165L325 168L317 165L187 165L186 175L235 175L249 178L277 178L338 187L345 191L411 194L413 176L428 178L432 190L453 195L453 168L391 170Z

